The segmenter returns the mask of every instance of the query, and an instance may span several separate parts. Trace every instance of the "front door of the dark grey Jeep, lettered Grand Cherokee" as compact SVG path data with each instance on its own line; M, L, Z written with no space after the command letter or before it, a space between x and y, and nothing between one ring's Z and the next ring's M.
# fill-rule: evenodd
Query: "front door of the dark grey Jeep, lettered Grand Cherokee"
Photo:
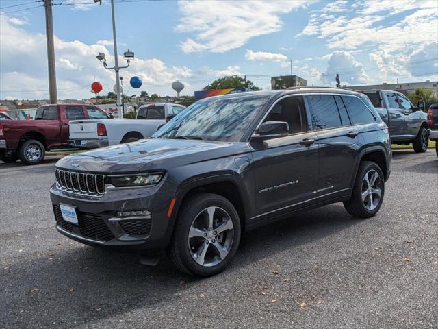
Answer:
M318 141L315 132L309 130L302 97L280 99L263 121L288 122L289 135L250 142L258 216L313 204L318 178Z

